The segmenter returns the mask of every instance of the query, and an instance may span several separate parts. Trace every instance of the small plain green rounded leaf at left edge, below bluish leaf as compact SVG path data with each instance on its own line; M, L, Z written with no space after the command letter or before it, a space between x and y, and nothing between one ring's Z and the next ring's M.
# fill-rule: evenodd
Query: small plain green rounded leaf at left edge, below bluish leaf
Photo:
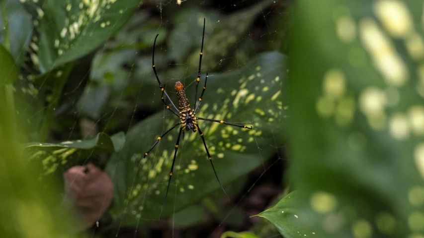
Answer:
M0 86L13 83L18 78L18 67L10 53L0 45Z

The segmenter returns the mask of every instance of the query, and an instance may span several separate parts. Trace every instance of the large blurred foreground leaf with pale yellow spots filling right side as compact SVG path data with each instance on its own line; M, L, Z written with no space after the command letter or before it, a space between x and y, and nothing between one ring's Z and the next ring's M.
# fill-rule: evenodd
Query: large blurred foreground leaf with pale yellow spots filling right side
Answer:
M297 1L291 175L317 237L424 234L423 1Z

